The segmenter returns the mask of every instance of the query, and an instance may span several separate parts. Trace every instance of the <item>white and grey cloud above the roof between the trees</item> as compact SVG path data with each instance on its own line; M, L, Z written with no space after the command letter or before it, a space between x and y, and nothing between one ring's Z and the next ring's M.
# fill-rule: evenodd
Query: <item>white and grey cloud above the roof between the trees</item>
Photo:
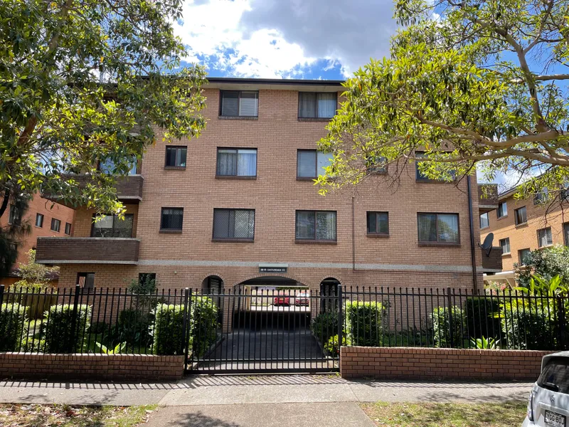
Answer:
M389 53L392 0L187 0L175 32L190 48L235 76L301 77L328 60L349 75Z

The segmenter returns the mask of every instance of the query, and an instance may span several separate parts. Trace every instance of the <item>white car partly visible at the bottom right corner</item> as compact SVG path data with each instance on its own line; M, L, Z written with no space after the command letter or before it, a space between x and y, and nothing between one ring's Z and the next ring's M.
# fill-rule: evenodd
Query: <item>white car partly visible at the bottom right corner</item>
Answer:
M569 427L569 352L548 354L529 396L522 427Z

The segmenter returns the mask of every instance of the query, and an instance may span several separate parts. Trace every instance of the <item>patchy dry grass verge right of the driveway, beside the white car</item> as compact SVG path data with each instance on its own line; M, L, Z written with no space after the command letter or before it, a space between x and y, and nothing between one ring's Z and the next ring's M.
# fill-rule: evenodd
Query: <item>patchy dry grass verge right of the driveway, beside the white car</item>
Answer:
M528 404L361 404L377 426L512 427L521 426Z

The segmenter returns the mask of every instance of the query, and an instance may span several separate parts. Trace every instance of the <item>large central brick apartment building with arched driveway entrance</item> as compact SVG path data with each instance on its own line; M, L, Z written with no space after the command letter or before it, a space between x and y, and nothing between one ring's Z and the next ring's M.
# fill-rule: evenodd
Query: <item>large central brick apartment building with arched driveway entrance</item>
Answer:
M97 288L147 274L160 288L482 286L477 220L496 206L479 208L474 176L470 200L466 179L433 183L413 165L396 191L378 173L318 194L317 141L341 92L339 81L209 79L203 135L157 135L117 185L126 220L93 224L77 209L73 237L40 238L38 261L60 265L60 285Z

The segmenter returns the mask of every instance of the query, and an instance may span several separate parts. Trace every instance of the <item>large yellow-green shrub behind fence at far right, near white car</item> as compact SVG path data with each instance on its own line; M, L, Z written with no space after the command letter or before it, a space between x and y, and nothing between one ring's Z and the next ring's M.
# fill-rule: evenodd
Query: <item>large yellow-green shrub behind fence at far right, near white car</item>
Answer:
M551 350L557 345L555 313L548 307L512 300L501 305L501 327L509 349ZM503 347L504 348L504 347Z

